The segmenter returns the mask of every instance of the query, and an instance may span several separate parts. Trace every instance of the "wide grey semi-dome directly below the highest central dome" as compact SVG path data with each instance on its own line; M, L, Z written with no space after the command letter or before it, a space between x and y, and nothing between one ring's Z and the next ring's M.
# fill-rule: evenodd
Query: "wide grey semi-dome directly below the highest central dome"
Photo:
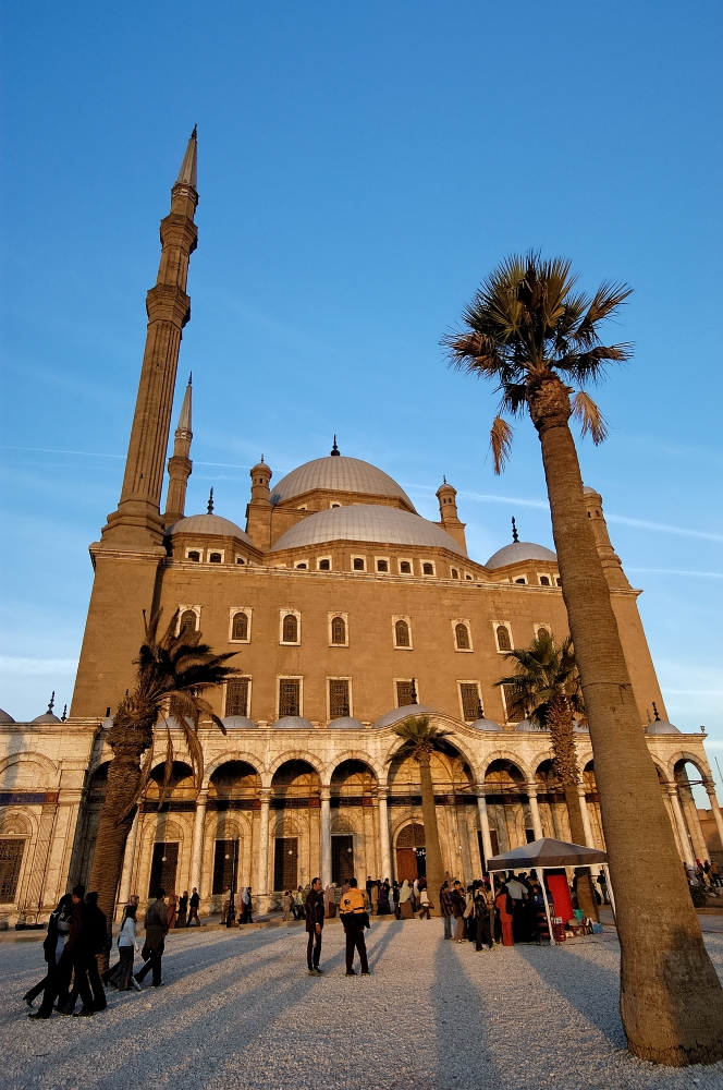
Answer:
M339 459L332 459L338 461ZM462 547L445 530L419 514L378 504L351 504L318 511L297 522L271 546L272 553L305 548L335 541L378 542L380 545L422 545L464 556Z

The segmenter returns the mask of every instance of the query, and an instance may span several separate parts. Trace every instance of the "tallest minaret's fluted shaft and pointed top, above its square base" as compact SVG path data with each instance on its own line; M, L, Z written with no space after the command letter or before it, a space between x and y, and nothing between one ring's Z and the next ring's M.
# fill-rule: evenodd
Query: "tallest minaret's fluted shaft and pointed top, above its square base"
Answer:
M163 543L163 463L181 331L191 317L186 280L197 238L196 147L194 129L171 190L171 213L161 220L161 261L156 287L146 296L148 331L123 487L118 510L108 516L103 526L101 547L147 549L160 548Z

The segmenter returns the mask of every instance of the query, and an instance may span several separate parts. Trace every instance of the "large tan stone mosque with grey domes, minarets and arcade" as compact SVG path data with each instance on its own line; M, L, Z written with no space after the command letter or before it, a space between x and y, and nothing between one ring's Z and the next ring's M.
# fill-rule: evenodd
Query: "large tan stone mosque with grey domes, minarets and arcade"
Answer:
M118 901L196 886L201 916L229 886L252 886L257 909L316 874L328 884L403 879L425 870L415 762L395 756L393 726L425 713L449 731L432 761L446 869L478 875L485 859L540 836L569 837L546 731L515 722L495 682L505 652L540 628L567 632L556 557L517 540L486 562L467 554L456 492L437 491L439 520L421 518L383 470L329 455L274 481L250 471L244 529L213 510L186 514L192 387L173 455L171 408L196 246L196 133L161 222L158 281L121 497L90 545L95 569L70 716L51 706L30 723L0 712L0 925L45 920L86 881L111 751L113 710L133 683L144 609L179 611L240 676L211 695L205 772L193 789L176 725L173 786L159 807L163 754L128 837ZM610 543L600 495L586 488L650 753L681 858L706 847L688 770L702 783L723 840L704 734L666 720L637 596ZM588 844L604 846L588 731L576 728ZM621 755L623 759L623 755Z

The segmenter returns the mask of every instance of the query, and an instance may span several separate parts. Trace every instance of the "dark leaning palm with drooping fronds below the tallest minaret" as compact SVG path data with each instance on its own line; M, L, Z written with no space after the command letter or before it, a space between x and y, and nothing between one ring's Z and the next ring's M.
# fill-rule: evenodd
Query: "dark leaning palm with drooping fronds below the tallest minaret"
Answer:
M118 884L121 877L125 841L135 816L136 803L146 788L152 767L155 725L167 712L181 726L194 770L196 789L204 775L204 752L198 741L200 714L208 715L225 734L221 719L203 698L203 693L220 685L236 671L223 663L232 653L215 654L200 642L200 632L186 627L175 634L177 611L159 639L160 613L144 622L146 639L134 665L138 667L136 685L118 706L108 744L113 760L108 768L106 798L100 810L100 824L93 858L90 886L98 891L98 905L109 925L113 919ZM147 751L143 767L140 760ZM171 782L173 740L166 729L166 767L159 806Z

